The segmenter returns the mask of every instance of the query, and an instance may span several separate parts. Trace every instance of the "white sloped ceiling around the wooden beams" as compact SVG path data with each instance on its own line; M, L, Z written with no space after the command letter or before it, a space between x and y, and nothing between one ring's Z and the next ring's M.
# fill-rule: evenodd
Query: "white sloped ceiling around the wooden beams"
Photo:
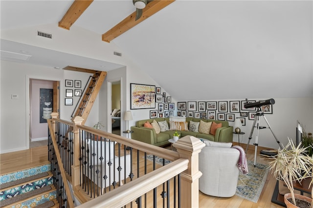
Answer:
M1 0L1 30L58 24L71 3ZM95 0L74 24L102 34L134 10L132 0ZM313 96L312 0L177 0L112 42L177 101ZM18 47L1 41L1 50ZM65 64L101 64L49 53Z

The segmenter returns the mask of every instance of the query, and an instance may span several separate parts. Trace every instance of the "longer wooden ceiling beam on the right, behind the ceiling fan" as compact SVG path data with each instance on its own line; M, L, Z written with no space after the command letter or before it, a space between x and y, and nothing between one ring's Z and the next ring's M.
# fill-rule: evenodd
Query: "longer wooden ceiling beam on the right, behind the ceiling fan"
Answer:
M136 18L136 12L129 15L127 18L125 18L123 21L116 24L114 27L112 27L109 31L102 34L102 41L104 42L110 42L114 38L122 35L127 30L133 28L140 22L146 20L156 12L160 11L164 7L168 6L170 3L174 2L175 0L153 0L149 2L146 7L142 10L142 16L137 21L135 21Z

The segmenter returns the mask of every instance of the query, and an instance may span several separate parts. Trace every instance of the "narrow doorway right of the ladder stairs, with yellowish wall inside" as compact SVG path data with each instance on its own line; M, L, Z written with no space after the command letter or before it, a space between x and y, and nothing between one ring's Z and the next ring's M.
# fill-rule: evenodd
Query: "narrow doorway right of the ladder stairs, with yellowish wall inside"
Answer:
M121 135L121 81L112 82L111 109L112 133Z

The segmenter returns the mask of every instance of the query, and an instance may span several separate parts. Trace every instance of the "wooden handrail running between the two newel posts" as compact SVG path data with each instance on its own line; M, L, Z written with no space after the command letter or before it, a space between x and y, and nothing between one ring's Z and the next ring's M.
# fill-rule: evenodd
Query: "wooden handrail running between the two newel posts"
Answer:
M116 134L112 134L112 133L108 133L108 132L104 132L101 131L99 129L95 129L95 128L91 128L89 126L85 126L85 125L77 125L78 128L88 131L92 134L107 138L107 139L113 139L115 142L121 143L125 146L131 146L135 149L141 150L143 152L147 152L149 154L153 154L156 156L159 156L161 158L170 160L170 161L174 161L179 159L179 153L169 150L169 149L164 149L162 147L159 146L152 146L152 145L148 145L146 143L142 143L136 140L132 140L132 139L127 139L125 137L116 135Z

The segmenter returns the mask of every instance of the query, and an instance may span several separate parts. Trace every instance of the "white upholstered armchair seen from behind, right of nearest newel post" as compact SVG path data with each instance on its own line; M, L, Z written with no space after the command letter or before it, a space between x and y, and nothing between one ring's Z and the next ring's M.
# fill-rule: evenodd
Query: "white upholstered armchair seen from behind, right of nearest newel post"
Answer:
M204 141L199 154L199 189L202 193L218 197L231 197L236 193L239 176L237 167L240 152L230 148L231 143L217 143ZM220 147L211 146L212 143ZM228 145L227 145L228 144ZM221 146L227 147L221 147Z

